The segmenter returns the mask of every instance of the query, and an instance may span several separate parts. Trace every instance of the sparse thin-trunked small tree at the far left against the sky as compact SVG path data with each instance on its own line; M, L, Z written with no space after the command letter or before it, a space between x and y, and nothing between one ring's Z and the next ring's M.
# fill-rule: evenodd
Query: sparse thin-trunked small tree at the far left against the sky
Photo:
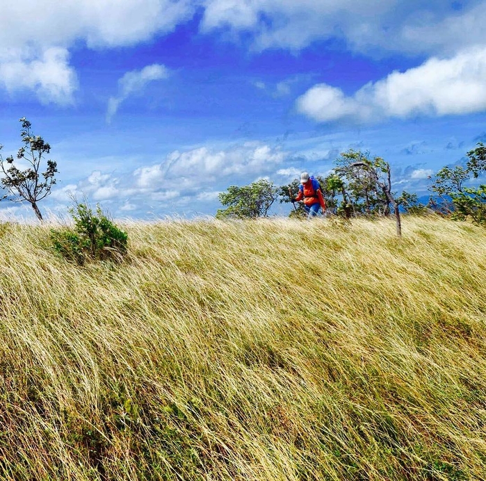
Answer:
M47 168L40 173L42 156L49 154L51 146L44 142L39 136L34 136L31 131L31 122L25 118L20 119L22 122L23 147L17 152L17 159L24 159L29 164L25 170L19 170L14 163L13 156L3 160L0 155L1 170L5 177L1 179L1 185L7 190L2 199L9 198L13 202L29 202L39 220L42 220L42 214L37 203L51 193L51 188L56 184L54 174L58 172L55 161L47 160ZM3 146L0 145L0 150ZM0 199L1 200L1 199Z

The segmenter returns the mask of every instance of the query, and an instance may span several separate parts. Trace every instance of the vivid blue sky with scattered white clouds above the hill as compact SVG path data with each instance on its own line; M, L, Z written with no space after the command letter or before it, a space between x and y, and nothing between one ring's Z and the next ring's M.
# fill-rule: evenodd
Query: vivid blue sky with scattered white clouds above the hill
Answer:
M351 148L425 195L486 140L486 0L0 1L0 154L21 117L49 142L47 218L73 198L214 215L229 186L325 175Z

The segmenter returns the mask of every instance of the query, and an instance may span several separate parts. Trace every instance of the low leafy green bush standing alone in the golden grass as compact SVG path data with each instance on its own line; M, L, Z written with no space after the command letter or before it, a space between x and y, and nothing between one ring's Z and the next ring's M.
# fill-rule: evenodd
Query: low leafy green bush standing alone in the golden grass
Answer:
M100 206L96 213L87 204L70 209L74 229L51 229L54 250L82 265L86 259L120 260L127 252L127 234L106 217Z

